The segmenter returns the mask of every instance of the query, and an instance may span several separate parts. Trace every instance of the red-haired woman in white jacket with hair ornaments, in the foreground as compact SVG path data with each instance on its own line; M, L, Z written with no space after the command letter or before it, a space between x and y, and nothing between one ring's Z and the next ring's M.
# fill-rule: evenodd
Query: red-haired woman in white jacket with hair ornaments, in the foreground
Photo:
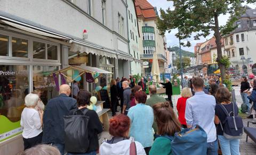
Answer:
M146 154L141 143L137 141L134 142L134 138L129 137L130 125L130 118L126 115L120 114L111 118L109 120L109 134L113 137L111 140L105 140L100 145L100 154L129 155L132 150L134 152L131 153L134 154Z

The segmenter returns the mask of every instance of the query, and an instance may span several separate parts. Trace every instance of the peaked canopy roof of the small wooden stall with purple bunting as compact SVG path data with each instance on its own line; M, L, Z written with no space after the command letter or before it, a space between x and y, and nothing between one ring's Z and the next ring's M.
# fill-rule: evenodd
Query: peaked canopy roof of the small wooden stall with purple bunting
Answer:
M79 73L74 73L75 71L78 71ZM71 73L71 75L70 75ZM91 66L86 66L86 65L80 65L80 66L68 66L66 68L63 68L62 70L53 72L53 74L61 74L66 77L66 79L69 82L73 82L75 79L77 79L79 76L83 75L84 73L91 73L91 74L113 74L111 72L102 70L97 67L91 67ZM76 76L74 76L76 75Z

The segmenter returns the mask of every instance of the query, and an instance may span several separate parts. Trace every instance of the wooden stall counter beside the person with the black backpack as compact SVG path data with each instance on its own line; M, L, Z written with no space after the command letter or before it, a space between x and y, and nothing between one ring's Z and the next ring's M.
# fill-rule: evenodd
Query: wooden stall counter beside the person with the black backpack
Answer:
M104 125L104 131L108 131L109 130L109 118L108 118L108 111L110 109L106 109L103 108L103 103L105 101L97 101L97 103L95 104L95 106L97 107L97 114L100 118L101 123L103 123Z

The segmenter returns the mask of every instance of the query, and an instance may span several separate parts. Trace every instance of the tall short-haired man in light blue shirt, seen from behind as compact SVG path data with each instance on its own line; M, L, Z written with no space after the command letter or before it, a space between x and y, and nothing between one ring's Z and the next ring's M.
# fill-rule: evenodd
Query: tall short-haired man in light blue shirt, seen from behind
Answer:
M192 80L195 95L187 99L185 118L187 127L199 125L207 134L207 154L218 154L218 142L214 124L216 100L214 96L205 94L204 80L195 77Z

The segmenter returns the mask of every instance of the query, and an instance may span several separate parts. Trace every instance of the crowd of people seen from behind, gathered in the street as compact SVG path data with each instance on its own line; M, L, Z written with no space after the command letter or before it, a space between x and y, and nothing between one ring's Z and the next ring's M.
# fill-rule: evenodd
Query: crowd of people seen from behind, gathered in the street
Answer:
M30 93L25 98L26 108L21 115L21 126L24 128L22 136L25 152L23 153L38 151L35 149L36 145L38 147L41 144L39 148L44 148L45 145L42 144L47 144L49 147L57 148L60 154L65 154L67 146L65 147L63 116L71 116L77 110L81 110L86 111L83 114L90 118L86 130L89 146L85 152L73 151L67 152L68 154L97 154L98 150L100 154L171 154L171 140L164 135L174 136L175 133L196 125L201 126L207 134L206 154L218 154L218 141L222 154L239 154L239 138L228 139L223 130L228 127L225 123L228 117L226 111L237 117L238 107L230 101L229 90L212 79L208 77L187 79L188 83L182 89L181 97L177 102L178 117L170 102L171 90L166 90L168 96L166 101L156 93L155 85L149 85L148 98L145 92L147 84L143 78L138 84L132 76L130 79L123 77L122 80L111 80L113 117L109 120L109 134L112 138L104 140L100 146L98 134L103 128L97 113L87 109L91 104L90 92L79 90L76 99L70 98L70 87L63 84L60 86L60 95L49 100L44 111L35 109L39 96ZM172 87L169 79L161 84L166 89ZM250 93L249 98L255 101L256 80L253 81L253 91L249 92L249 90L250 88L246 90L246 94ZM245 93L244 91L242 92ZM121 103L121 114L116 115L118 100ZM52 150L56 151L54 148Z

